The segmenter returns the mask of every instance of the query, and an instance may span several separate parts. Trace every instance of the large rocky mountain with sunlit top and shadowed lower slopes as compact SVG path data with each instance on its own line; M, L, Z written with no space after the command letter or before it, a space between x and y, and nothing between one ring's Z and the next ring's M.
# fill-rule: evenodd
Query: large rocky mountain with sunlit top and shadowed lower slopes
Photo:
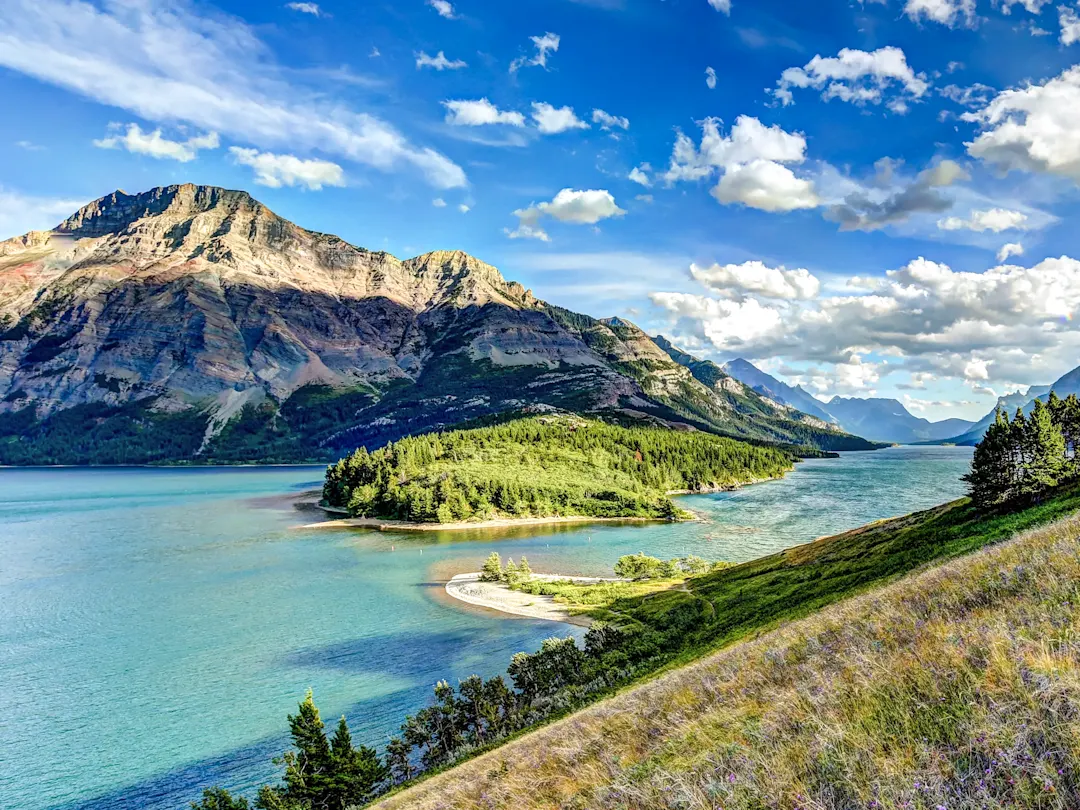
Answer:
M0 463L327 459L537 407L870 447L461 252L400 260L243 191L117 191L0 242Z

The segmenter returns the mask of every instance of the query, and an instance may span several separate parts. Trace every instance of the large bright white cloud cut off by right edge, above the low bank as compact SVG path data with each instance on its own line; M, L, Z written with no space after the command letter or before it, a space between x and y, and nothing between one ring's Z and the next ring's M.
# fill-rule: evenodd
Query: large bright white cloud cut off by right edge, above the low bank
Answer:
M999 93L964 113L984 131L968 153L1000 168L1042 172L1080 183L1080 65L1041 84Z

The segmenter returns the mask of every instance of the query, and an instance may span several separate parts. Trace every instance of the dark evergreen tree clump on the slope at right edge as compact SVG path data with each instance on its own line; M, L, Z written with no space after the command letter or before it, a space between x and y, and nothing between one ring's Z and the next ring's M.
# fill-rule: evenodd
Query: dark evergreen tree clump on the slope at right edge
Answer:
M975 446L968 494L980 509L1038 500L1080 476L1080 400L1053 391L1036 400L1031 413L1017 408L1010 419L1000 408Z

